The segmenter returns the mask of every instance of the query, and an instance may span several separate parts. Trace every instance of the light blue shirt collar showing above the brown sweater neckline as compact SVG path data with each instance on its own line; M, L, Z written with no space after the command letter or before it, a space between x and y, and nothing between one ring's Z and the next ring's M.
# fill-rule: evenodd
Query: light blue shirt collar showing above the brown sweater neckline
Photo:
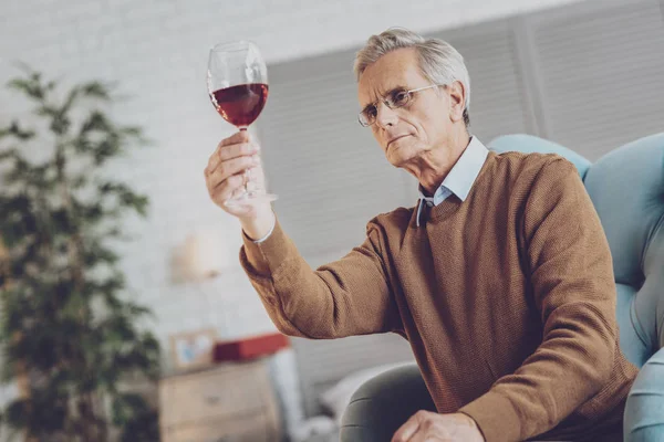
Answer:
M419 201L417 203L417 218L415 220L417 227L419 227L419 215L424 204L428 207L438 206L453 193L461 201L466 201L470 188L477 179L488 155L489 149L477 137L470 137L468 147L466 147L466 150L464 150L433 197L425 197L422 186L419 186Z

